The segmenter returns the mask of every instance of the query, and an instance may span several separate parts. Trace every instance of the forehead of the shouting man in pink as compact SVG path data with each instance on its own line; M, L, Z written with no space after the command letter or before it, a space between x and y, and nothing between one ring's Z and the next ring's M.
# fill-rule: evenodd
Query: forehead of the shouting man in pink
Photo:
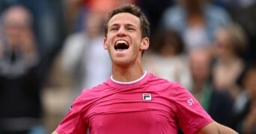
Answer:
M140 20L131 13L118 13L109 20L109 26L112 25L134 25L140 26Z

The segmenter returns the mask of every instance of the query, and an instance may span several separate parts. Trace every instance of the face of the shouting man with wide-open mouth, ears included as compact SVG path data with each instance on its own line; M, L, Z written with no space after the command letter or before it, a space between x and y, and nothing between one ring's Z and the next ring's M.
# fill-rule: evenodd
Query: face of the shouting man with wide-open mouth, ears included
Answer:
M109 20L104 48L109 51L112 62L128 66L141 59L141 52L149 45L147 37L141 38L141 25L137 16L118 13Z

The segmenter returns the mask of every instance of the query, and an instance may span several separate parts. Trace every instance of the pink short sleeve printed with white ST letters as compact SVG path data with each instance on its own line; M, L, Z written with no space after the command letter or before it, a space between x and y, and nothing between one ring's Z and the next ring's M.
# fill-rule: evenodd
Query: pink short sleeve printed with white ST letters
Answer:
M178 83L175 83L174 95L177 121L183 133L195 133L213 121L198 100Z

